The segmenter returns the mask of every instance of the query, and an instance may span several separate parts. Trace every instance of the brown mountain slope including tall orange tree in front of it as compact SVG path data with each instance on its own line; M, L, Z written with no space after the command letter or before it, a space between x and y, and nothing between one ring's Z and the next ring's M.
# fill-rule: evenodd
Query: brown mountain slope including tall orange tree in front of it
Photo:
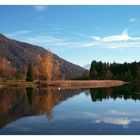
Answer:
M6 58L17 70L26 70L29 62L38 67L43 64L42 68L49 80L81 79L88 75L88 70L60 58L43 47L9 39L3 34L0 34L0 58Z

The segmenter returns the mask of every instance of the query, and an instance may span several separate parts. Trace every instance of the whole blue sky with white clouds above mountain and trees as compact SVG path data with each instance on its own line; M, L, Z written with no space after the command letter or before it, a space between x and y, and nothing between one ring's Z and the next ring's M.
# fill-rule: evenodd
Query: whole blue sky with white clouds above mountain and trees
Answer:
M0 6L0 32L79 64L140 60L140 6Z

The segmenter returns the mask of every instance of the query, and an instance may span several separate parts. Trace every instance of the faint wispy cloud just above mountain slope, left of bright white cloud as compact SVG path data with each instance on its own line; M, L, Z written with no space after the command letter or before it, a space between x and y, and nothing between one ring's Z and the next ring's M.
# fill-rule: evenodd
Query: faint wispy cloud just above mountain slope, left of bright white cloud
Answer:
M31 44L42 47L59 47L59 49L81 48L83 42L72 41L70 37L63 37L59 32L49 31L41 32L36 35L35 32L29 30L19 30L11 33L6 33L7 37L12 37L20 41L25 41ZM58 36L59 35L59 36Z

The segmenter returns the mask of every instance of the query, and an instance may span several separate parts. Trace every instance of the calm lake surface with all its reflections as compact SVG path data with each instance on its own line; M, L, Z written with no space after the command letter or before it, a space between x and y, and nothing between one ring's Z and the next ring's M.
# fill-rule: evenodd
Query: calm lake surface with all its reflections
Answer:
M0 134L140 134L140 86L0 89Z

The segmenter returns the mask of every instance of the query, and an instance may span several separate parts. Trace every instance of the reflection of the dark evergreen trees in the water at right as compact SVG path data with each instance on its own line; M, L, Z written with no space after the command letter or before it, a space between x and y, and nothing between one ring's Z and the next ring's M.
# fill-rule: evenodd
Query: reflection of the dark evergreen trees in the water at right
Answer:
M140 86L127 85L114 88L90 89L90 95L93 102L112 99L132 99L140 100Z

